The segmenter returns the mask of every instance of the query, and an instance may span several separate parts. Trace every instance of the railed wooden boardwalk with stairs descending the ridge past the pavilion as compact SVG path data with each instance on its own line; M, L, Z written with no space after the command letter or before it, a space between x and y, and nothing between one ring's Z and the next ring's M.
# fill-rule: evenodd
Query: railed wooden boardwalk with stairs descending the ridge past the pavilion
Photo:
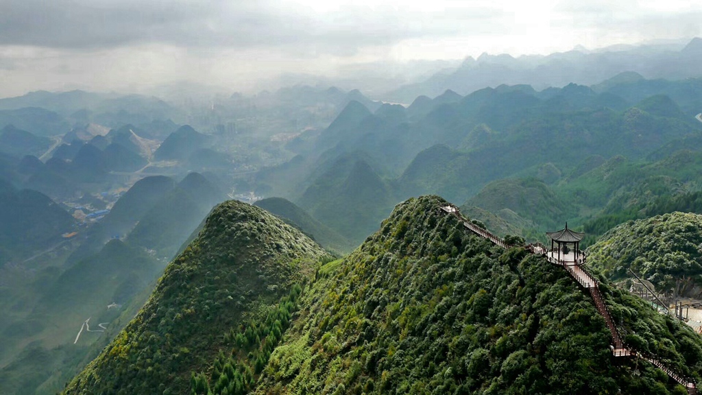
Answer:
M461 223L466 229L468 229L472 233L475 233L476 235L479 235L482 238L490 240L495 245L498 245L505 249L512 247L501 238L498 238L496 235L489 232L487 229L481 228L480 226L477 226L476 224L473 224L472 222L468 221L468 219L466 219L463 215L461 215L461 212L458 211L458 207L454 205L446 205L442 206L441 210L446 214L455 215L456 217L458 217L458 219L461 221ZM607 328L609 329L609 333L611 335L610 348L613 356L640 356L642 359L649 361L649 363L651 363L652 365L663 370L663 372L668 374L668 377L672 378L673 380L675 380L675 382L682 385L682 387L684 387L687 390L688 395L697 395L697 387L694 379L692 379L691 377L684 377L683 375L680 375L679 373L675 372L673 368L670 368L668 365L665 365L665 363L658 360L658 358L656 358L655 356L651 356L649 354L644 354L640 351L637 351L636 349L628 346L628 344L625 343L619 328L617 328L616 324L614 323L614 318L612 318L611 312L609 311L607 304L604 303L604 299L602 298L602 292L600 292L600 282L597 281L597 278L588 273L585 266L583 266L582 264L574 264L573 262L566 262L566 260L564 259L559 260L557 254L548 251L548 249L544 245L541 245L541 243L530 244L525 247L532 254L541 255L550 263L562 266L568 272L571 278L576 280L576 282L581 287L583 287L583 289L589 291L590 297L592 297L592 302L595 302L595 307L597 307L597 312L600 313L600 316L602 316L602 318L604 318L604 322L607 324Z

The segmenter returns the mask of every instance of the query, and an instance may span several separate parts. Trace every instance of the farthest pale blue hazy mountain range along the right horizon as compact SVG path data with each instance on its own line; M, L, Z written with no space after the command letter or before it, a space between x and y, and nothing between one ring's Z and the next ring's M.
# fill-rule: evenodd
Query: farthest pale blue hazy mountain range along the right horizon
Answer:
M442 70L423 82L402 86L385 94L385 100L411 103L421 95L437 96L446 89L461 95L485 86L530 84L538 89L598 84L621 72L637 72L647 79L686 79L700 77L702 39L696 37L679 48L633 46L583 51L576 48L548 56L507 54L468 57L453 70Z

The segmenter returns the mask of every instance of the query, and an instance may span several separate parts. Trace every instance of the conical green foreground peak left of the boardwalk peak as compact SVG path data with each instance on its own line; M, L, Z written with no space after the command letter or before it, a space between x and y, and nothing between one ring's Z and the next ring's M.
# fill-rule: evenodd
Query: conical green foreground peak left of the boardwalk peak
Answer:
M265 322L275 311L287 323L300 289L293 285L310 278L326 256L310 238L258 207L236 201L219 205L194 242L168 265L138 316L65 394L190 391L191 372L204 370L232 342L230 332ZM251 343L259 342L258 349L264 339L272 347L281 325L279 320L272 332L261 332Z

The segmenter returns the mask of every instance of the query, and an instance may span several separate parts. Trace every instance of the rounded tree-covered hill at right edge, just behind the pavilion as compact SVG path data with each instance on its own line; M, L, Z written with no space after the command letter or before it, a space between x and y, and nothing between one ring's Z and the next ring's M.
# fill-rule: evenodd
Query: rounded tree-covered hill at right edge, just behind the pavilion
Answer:
M673 212L628 221L605 233L587 250L613 280L633 278L629 269L651 281L659 292L700 297L702 215Z

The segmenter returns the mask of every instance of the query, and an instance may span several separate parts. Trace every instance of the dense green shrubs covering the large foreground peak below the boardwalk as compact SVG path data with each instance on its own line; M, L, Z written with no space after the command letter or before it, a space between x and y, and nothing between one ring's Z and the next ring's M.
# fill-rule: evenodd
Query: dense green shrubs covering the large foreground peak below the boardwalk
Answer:
M562 268L464 231L437 214L444 204L398 205L359 249L318 271L257 394L668 393L654 368L639 377L633 361L613 363L604 320ZM637 312L651 309L611 292L627 328L649 344L667 339L670 361L699 371L675 351L675 335L691 331L640 323Z

